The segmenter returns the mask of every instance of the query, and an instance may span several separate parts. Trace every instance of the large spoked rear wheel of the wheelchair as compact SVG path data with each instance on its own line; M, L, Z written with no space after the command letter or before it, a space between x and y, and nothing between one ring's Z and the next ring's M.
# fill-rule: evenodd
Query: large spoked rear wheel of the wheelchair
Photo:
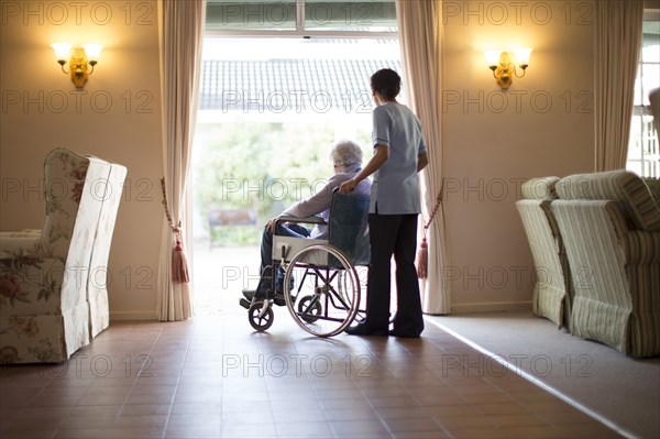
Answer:
M330 261L319 265L319 261ZM296 279L292 288L290 279ZM289 262L284 276L289 314L307 332L332 337L355 318L360 304L360 279L344 253L330 244L302 249Z

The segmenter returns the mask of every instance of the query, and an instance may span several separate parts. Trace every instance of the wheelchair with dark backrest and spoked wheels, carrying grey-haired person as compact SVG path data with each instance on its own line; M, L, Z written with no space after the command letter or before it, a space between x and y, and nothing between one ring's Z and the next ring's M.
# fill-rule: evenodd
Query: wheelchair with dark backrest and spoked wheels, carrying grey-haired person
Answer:
M364 315L360 304L371 256L369 202L369 195L336 189L328 222L319 217L277 219L276 226L327 224L328 239L273 235L273 265L264 268L257 287L265 295L257 293L251 301L240 303L255 330L271 328L273 305L286 305L296 323L318 337L336 336ZM284 279L278 282L282 272Z

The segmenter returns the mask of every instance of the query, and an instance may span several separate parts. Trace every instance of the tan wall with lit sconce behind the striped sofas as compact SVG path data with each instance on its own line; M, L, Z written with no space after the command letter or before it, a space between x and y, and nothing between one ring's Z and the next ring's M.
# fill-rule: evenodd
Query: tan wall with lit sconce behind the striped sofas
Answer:
M525 179L593 171L591 3L448 1L443 10L452 311L529 308L534 264L514 204ZM530 65L502 91L481 51L516 46L534 48Z

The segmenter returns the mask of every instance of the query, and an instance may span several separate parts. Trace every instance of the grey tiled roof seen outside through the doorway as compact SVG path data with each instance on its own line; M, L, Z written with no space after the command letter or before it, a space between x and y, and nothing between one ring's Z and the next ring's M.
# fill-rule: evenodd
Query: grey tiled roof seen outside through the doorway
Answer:
M369 78L396 59L205 61L199 109L222 112L354 112L371 108Z

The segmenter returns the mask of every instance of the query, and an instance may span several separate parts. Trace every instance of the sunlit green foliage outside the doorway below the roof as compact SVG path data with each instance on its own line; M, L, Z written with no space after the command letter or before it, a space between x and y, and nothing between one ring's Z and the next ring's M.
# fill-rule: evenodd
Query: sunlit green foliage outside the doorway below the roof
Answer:
M355 139L371 156L370 127ZM250 209L256 226L210 230L220 245L257 244L265 222L320 189L332 175L331 124L234 122L200 125L194 157L197 210ZM208 222L207 222L208 227Z

